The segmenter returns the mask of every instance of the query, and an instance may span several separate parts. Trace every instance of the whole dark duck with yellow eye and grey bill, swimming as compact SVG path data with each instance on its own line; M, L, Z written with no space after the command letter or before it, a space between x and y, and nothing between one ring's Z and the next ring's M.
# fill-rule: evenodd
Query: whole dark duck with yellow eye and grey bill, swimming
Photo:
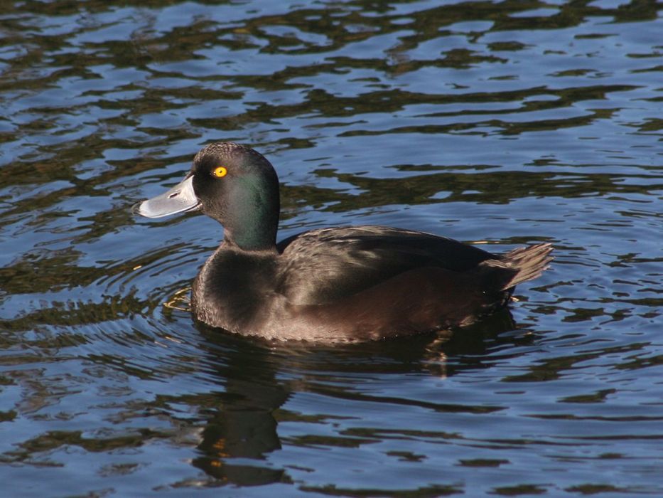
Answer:
M318 228L276 242L279 179L251 147L215 142L179 184L139 202L161 218L199 211L223 227L191 287L193 318L280 341L370 341L457 329L507 307L549 267L550 243L489 253L389 226Z

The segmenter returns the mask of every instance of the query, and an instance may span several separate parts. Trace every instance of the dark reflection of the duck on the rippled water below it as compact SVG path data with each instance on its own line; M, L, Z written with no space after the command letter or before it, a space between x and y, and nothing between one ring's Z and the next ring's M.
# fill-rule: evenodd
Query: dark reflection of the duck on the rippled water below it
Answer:
M504 334L513 327L508 310L503 309L463 331L360 344L324 346L299 342L275 347L268 341L218 334L217 330L198 324L202 361L217 376L219 390L175 398L171 403L191 406L198 413L198 423L203 423L197 444L199 455L192 464L212 477L212 483L207 484L291 482L287 469L269 463L268 455L281 449L277 420L304 424L301 430L305 430L312 422L334 423L336 414L320 413L315 406L306 413L289 410L289 398L298 393L315 393L338 399L340 406L357 401L382 403L382 398L372 391L364 391L362 383L344 383L343 379L408 373L446 378L461 371L485 369L491 349L500 349L503 356L508 356L508 345L533 340L523 331ZM389 404L392 403L450 413L487 410L483 405L445 403L443 390L436 399L404 396L389 398ZM287 444L325 446L329 441L311 434L289 438ZM306 467L306 462L301 466Z

